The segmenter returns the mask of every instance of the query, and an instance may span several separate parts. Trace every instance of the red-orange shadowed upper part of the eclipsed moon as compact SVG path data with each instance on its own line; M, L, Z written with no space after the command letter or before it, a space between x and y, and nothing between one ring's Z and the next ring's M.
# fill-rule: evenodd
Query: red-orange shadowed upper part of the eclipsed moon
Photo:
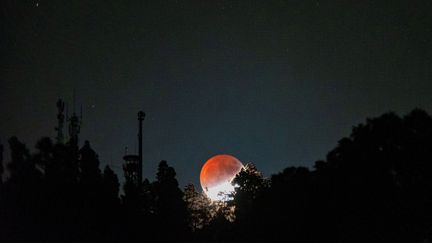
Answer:
M213 156L205 162L201 169L201 187L204 191L208 191L215 186L231 182L242 167L240 160L234 156L227 154Z

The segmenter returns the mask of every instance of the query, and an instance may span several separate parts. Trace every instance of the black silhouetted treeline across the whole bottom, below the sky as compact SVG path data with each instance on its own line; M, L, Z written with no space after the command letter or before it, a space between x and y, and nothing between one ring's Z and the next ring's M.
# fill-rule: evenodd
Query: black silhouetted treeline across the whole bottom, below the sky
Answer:
M42 138L35 154L8 142L0 242L432 240L432 117L423 110L353 127L313 169L264 178L248 164L228 202L180 189L166 161L155 181L126 183L119 195L117 175L99 169L88 142L78 149Z

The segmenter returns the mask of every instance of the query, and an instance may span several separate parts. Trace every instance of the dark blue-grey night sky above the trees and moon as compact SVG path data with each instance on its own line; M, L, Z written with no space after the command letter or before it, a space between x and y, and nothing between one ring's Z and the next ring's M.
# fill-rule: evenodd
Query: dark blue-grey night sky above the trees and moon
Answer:
M181 185L218 153L269 176L324 159L366 117L432 111L431 1L0 6L1 143L55 137L55 103L70 113L75 89L81 143L122 180L140 109L144 176L164 159Z

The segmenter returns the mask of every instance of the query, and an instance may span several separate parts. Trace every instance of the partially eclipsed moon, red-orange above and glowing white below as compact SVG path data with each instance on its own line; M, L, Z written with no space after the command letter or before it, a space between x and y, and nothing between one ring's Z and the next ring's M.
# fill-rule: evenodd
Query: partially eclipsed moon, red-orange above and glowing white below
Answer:
M205 162L200 173L200 183L205 194L213 201L227 200L223 194L234 191L231 181L243 168L236 157L219 154Z

